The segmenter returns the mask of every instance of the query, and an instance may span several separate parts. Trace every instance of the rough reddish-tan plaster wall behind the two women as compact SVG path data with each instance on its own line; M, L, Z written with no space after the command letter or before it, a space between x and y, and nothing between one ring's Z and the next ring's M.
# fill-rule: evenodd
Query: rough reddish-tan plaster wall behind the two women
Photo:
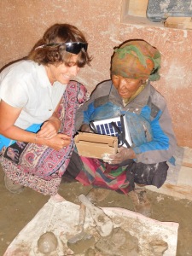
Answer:
M91 91L110 78L113 47L142 38L160 49L161 79L153 85L166 97L177 143L192 148L192 31L122 24L120 8L119 0L1 0L0 68L27 55L52 24L71 23L84 32L94 57L77 78Z

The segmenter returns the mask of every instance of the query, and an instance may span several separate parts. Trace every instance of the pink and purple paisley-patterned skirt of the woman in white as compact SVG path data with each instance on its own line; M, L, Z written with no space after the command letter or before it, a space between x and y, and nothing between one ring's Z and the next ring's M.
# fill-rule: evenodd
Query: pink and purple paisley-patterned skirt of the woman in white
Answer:
M55 195L73 152L75 113L85 100L84 85L70 81L58 108L60 132L72 137L70 145L59 151L45 145L23 142L3 147L0 162L7 177L14 183L20 183L44 195Z

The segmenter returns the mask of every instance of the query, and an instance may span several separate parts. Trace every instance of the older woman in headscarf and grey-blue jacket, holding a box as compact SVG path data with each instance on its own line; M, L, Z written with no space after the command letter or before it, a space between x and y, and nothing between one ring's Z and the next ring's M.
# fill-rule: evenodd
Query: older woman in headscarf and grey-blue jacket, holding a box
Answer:
M125 114L131 130L131 148L100 159L73 152L67 173L84 185L113 189L131 195L135 210L149 214L149 201L139 186L160 188L176 149L166 101L150 84L160 79L160 52L143 40L131 40L114 49L111 80L96 87L79 108L77 130L90 132L90 121ZM147 207L147 208L146 208ZM146 210L147 209L147 210Z

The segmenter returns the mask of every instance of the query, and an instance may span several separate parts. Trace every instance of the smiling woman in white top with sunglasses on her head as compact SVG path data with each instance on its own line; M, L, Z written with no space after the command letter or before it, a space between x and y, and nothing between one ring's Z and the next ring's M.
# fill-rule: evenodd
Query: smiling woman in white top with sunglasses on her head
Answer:
M90 65L82 32L55 24L26 59L0 73L0 161L5 186L56 195L73 151L74 119L86 100L73 81Z

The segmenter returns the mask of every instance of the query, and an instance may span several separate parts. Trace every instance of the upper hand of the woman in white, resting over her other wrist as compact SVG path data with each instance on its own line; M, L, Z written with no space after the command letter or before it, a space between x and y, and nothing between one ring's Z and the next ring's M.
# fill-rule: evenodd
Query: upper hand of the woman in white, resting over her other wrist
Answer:
M57 135L60 126L60 119L49 119L41 126L41 130L38 131L38 137L49 140Z

